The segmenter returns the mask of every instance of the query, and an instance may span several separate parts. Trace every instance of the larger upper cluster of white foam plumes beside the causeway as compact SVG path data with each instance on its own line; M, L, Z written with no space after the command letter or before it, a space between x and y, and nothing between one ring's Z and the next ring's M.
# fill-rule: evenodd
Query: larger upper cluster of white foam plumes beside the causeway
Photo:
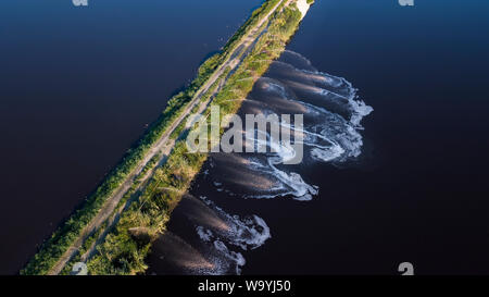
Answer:
M300 53L285 51L280 60L271 65L267 76L256 82L250 98L243 101L242 113L256 113L259 110L263 114L280 115L297 110L296 113L304 114L302 129L289 126L293 133L303 136L303 164L315 161L338 165L362 153L361 121L372 113L373 108L359 99L358 89L350 82L317 71ZM266 139L269 138L267 135ZM268 181L268 188L250 185L235 193L235 185L243 183L238 182L240 176L234 176L234 172L228 170L223 176L213 175L218 180L220 191L244 198L292 197L297 200L311 200L317 195L317 186L305 182L297 172L297 166L283 164L296 156L293 147L271 141L262 144L259 139L256 143L267 146L267 151L273 152L240 153L248 162L234 164L233 168L239 168L234 171L243 176L254 174L256 178ZM222 158L215 159L217 164L222 162Z

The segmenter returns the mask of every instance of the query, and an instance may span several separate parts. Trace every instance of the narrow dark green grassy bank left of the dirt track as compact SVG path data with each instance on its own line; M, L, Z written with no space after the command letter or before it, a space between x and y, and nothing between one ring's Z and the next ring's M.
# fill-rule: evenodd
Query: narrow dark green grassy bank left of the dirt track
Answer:
M21 270L21 274L47 274L60 260L82 231L99 213L105 201L135 171L149 149L167 131L172 123L184 112L198 89L209 79L214 71L227 59L240 38L253 27L260 18L268 13L279 0L268 0L255 10L250 18L229 39L222 52L214 54L201 64L197 77L184 90L172 97L159 119L146 131L143 136L126 152L118 164L104 177L99 186L88 196L84 203L47 239ZM173 135L175 137L175 135Z

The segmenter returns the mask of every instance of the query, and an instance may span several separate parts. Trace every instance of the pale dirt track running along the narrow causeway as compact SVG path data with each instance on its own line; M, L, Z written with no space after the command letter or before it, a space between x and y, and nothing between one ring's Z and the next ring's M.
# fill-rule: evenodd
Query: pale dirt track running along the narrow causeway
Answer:
M78 238L71 245L67 250L61 256L58 262L51 268L48 274L54 275L59 274L66 263L72 259L80 249L84 242L95 232L97 232L103 223L110 219L110 216L114 213L114 210L117 208L121 199L124 195L130 189L134 184L134 180L138 174L143 170L143 168L148 164L148 162L154 157L160 154L161 160L164 160L166 156L172 151L174 146L173 139L171 139L171 135L173 132L184 122L184 120L191 113L193 108L201 104L200 112L204 110L204 106L209 102L202 102L202 96L210 91L211 87L216 83L220 77L226 72L226 70L235 70L242 59L246 57L246 52L252 47L253 42L261 35L264 29L264 24L268 21L269 16L275 13L275 11L285 2L285 5L288 5L292 0L281 0L279 1L266 15L264 15L249 32L241 37L240 41L235 46L235 48L227 55L226 60L221 63L221 65L214 71L211 77L199 88L196 92L191 101L187 104L184 112L172 123L172 125L163 133L160 139L151 147L151 149L147 152L145 158L137 164L137 166L133 170L133 172L126 177L126 180L118 186L118 188L114 191L114 194L104 202L101 210L97 213L97 215L83 228ZM217 92L217 88L211 90L212 98L215 92ZM161 161L160 160L160 161ZM159 162L160 163L160 162ZM146 174L142 177L142 183L139 187L146 185L151 176L152 172Z

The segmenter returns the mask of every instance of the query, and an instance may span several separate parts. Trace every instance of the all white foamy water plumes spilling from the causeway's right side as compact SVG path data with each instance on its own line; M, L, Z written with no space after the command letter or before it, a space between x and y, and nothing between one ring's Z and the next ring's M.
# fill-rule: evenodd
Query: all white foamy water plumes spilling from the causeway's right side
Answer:
M265 141L243 143L265 146L266 153L211 153L204 178L229 196L311 200L319 188L300 173L312 163L348 164L361 156L361 122L372 111L350 82L319 72L304 57L287 50L271 65L267 76L256 82L239 114L303 114L301 128L280 123L291 135L301 134L303 162L285 165L298 153L294 146L266 141L271 139L266 134ZM246 264L241 252L264 245L271 238L269 227L258 215L231 215L206 197L192 199L185 215L195 227L201 256L189 258L187 269L198 274L240 274ZM198 264L188 264L193 261Z

